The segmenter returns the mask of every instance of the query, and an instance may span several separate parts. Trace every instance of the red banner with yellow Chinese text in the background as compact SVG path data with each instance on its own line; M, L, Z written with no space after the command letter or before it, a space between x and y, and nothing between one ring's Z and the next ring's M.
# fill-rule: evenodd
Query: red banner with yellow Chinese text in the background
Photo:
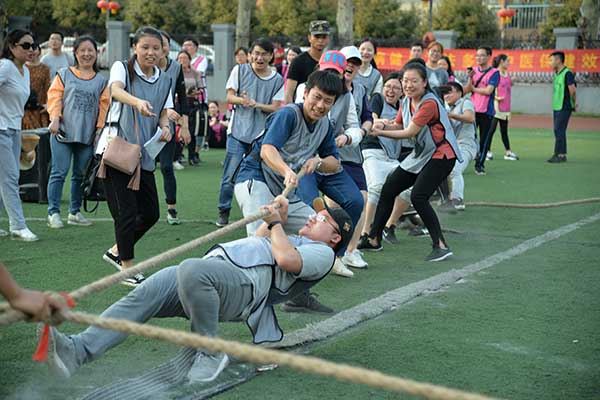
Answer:
M510 60L511 72L552 72L550 53L553 50L493 50L493 55L506 54ZM600 72L600 50L562 50L565 64L573 72ZM381 70L397 70L408 61L410 49L380 47L375 61ZM446 49L444 55L450 58L452 69L464 71L475 65L474 49ZM491 64L491 60L490 60Z

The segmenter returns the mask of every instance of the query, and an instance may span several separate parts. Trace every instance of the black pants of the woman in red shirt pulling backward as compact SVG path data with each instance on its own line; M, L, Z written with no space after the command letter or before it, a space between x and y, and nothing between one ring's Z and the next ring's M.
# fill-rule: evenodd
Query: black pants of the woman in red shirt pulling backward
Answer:
M439 246L440 239L446 243L442 235L440 221L431 204L429 198L440 185L440 183L448 177L456 159L431 159L418 174L405 171L402 167L398 167L388 175L383 188L381 189L381 197L377 203L375 218L371 226L369 237L377 238L381 241L381 234L385 223L392 214L394 208L394 199L401 192L413 187L410 200L415 207L415 210L423 220L425 227L429 230L429 236L434 247Z

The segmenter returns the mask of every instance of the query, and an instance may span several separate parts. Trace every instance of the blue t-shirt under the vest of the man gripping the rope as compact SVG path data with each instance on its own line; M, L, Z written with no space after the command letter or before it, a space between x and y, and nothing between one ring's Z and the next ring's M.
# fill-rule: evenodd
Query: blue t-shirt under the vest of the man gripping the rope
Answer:
M297 103L298 107L303 107L303 103ZM263 176L260 161L257 158L260 158L260 148L263 144L270 144L274 146L277 150L280 150L285 142L288 140L289 136L292 134L294 130L294 126L296 125L296 113L290 107L283 107L275 114L273 114L272 118L267 120L265 125L265 133L264 135L258 137L254 143L252 144L252 150L250 154L244 157L240 165L240 170L236 176L235 182L244 182L250 179L256 179L261 182L265 182L265 177ZM306 123L309 131L313 131L316 124ZM329 126L329 132L327 132L327 136L321 142L318 148L319 157L325 158L328 156L334 156L339 158L337 148L335 146L335 137L333 133L333 128L331 124ZM258 157L256 157L258 156Z

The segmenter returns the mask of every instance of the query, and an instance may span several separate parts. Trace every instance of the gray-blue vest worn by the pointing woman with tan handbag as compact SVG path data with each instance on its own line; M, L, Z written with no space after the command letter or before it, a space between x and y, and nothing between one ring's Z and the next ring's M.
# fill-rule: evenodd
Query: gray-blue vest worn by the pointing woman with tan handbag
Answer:
M129 81L127 63L123 62L123 66L125 67L125 75L127 77L125 90L132 96L149 101L150 104L152 104L152 110L156 116L143 117L138 110L135 110L134 113L134 108L130 105L122 104L121 115L119 116L119 136L122 136L129 143L138 143L135 137L135 124L133 120L135 114L140 135L139 144L142 146L142 169L144 171L154 171L154 159L152 159L144 149L144 143L150 140L156 133L156 128L158 127L160 120L160 113L169 97L171 78L160 71L160 76L155 82L150 83L136 75L132 83ZM172 132L172 134L175 134L175 132Z

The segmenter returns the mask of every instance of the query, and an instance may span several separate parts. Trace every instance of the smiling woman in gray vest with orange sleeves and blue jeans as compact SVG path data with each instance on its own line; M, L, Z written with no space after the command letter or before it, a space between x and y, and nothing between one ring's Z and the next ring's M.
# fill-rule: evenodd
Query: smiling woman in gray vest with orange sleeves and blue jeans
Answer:
M62 68L48 91L52 167L48 181L48 226L62 228L60 200L71 160L69 225L89 226L81 212L81 183L93 154L97 129L104 126L108 110L108 80L98 73L98 48L90 36L81 36L73 45L75 66Z

